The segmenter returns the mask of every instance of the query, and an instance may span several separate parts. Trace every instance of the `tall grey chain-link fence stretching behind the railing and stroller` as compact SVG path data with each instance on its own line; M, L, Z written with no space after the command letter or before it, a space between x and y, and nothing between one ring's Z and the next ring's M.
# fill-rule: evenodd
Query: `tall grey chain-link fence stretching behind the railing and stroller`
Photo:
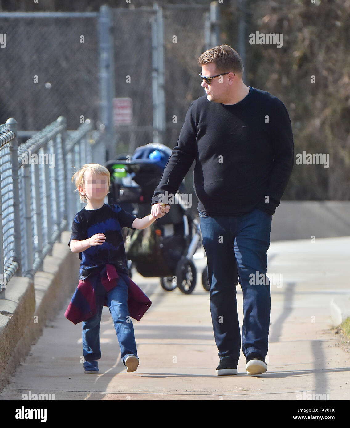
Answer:
M108 9L113 96L131 98L133 107L131 125L111 124L118 153L156 142L155 104L163 89L161 142L176 145L189 104L203 95L197 57L207 48L208 11L209 6L167 4ZM42 129L60 115L68 129L87 117L106 122L100 106L111 100L101 99L101 20L99 12L0 12L6 41L0 50L0 123L17 119L19 144L25 141L21 130Z

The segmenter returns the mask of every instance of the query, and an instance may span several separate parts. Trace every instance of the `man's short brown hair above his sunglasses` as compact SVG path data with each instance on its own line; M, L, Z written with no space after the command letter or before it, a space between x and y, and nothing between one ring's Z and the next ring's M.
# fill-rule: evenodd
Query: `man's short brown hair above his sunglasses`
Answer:
M200 66L213 62L218 72L243 74L243 63L239 54L230 45L215 46L203 52L197 59Z

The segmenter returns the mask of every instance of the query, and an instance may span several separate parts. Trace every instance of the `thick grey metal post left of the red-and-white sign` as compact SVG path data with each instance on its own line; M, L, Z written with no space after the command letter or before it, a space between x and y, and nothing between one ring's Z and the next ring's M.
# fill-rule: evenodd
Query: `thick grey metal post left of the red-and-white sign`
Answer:
M114 86L114 38L111 9L107 5L100 7L99 15L99 77L101 120L105 125L105 143L108 148L107 159L116 155L115 133L113 123Z

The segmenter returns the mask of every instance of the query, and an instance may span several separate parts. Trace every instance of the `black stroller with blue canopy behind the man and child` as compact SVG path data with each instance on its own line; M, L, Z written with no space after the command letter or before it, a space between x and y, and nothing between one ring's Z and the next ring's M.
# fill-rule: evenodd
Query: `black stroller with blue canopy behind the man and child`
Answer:
M151 198L159 184L171 149L150 143L138 147L133 155L119 155L106 163L111 174L108 204L117 204L139 218L150 214ZM175 203L164 217L143 230L124 228L129 276L131 267L145 277L159 276L162 288L176 286L190 294L196 285L197 270L192 257L201 246L200 223L185 205L182 182L174 195ZM207 268L202 274L203 288L209 291Z

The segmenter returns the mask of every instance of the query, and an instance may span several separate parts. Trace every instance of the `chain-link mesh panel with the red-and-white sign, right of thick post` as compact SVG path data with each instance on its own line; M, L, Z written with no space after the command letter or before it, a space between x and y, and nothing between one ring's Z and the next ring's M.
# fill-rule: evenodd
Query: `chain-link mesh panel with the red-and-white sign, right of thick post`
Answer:
M117 151L153 141L152 22L148 9L114 9L114 81L118 98L132 99L132 124L116 126Z

